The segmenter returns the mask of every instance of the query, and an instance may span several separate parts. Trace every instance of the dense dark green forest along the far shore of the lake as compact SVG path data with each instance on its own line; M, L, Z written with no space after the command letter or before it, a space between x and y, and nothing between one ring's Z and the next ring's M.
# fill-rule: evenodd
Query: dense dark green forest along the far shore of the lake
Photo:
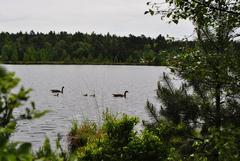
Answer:
M2 63L59 63L59 64L147 64L166 65L169 55L182 48L193 48L194 41L167 40L142 36L116 36L76 32L47 34L0 34Z

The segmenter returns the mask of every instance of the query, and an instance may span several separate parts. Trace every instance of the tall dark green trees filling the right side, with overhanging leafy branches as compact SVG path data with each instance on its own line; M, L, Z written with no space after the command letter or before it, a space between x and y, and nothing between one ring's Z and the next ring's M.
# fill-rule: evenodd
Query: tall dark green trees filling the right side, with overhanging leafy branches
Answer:
M173 138L180 137L177 145L171 139L168 141L177 148L177 160L239 160L240 59L234 44L239 37L240 3L165 2L166 5L158 0L149 2L151 8L146 13L161 14L176 24L182 19L190 20L195 27L197 46L170 60L174 74L186 83L175 89L164 76L157 90L162 108L157 110L148 103L153 122L146 126L158 133L163 120L174 127L184 125L185 133L179 134L177 129L168 133Z

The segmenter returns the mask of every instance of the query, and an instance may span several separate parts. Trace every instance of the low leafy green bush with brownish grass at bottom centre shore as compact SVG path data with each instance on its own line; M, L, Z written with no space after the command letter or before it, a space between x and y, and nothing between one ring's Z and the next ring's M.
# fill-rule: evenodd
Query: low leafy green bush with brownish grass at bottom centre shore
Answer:
M96 129L94 123L85 122L78 128L79 133L74 130L73 136L73 130L70 132L70 137L75 138L70 142L75 147L73 153L83 161L165 160L168 149L160 138L148 130L138 134L134 130L137 123L136 117L122 115L119 118L109 113L104 114L100 129ZM76 140L79 141L78 148Z

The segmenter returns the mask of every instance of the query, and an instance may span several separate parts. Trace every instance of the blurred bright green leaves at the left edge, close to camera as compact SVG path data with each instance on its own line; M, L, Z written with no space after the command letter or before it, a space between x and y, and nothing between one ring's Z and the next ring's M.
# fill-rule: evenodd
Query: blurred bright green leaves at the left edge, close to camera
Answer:
M21 87L18 92L12 92L17 87L19 79L14 73L0 67L0 160L1 161L31 161L33 160L30 143L11 142L11 134L20 119L33 119L44 115L47 111L37 111L32 102L32 109L26 108L26 113L19 116L14 111L29 99L30 89Z

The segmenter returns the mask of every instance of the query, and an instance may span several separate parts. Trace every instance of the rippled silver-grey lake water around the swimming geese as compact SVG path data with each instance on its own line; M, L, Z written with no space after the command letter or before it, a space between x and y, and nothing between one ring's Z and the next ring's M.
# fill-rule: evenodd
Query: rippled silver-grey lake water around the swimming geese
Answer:
M152 66L110 66L110 65L4 65L21 78L21 85L32 88L31 101L39 110L51 112L35 120L20 121L13 140L32 142L38 149L45 136L54 143L56 136L66 135L71 122L92 120L101 123L102 112L126 113L148 120L144 109L146 101L158 105L155 99L157 81L166 67ZM179 81L175 81L179 84ZM61 89L64 93L54 96L50 89ZM128 90L127 98L112 97L112 93ZM95 94L96 97L83 96ZM158 105L159 106L159 105ZM26 104L24 107L29 107ZM24 110L24 109L22 109ZM139 125L140 126L140 125Z

